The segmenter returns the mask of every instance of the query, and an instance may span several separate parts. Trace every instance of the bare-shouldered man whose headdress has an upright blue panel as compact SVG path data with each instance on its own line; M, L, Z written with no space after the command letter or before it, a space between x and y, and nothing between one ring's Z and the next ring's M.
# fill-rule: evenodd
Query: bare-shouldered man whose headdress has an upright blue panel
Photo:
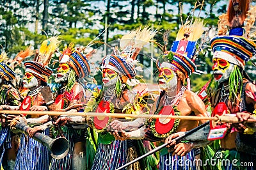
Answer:
M195 41L204 32L202 26L202 22L196 20L191 27L182 27L177 35L177 41L173 42L172 51L166 51L166 47L163 47L164 54L157 59L159 87L163 91L150 111L152 114L207 116L204 102L184 86L186 78L196 70L192 59L195 59ZM195 30L196 33L193 32ZM168 34L164 36L164 40L167 40ZM194 120L149 120L147 127L133 132L122 132L122 137L123 139L145 137L150 141L166 138L166 143L173 145L175 144L171 143L173 138L197 127L198 123ZM118 134L116 136L118 137ZM159 169L196 169L195 150L193 150L196 145L196 143L175 144L171 152L168 152L168 148L164 148L160 153Z

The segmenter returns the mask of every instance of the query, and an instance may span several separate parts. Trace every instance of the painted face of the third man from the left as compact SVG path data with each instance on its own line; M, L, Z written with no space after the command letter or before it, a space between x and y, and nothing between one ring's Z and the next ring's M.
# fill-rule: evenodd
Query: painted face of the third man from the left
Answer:
M70 66L66 63L61 63L56 73L55 82L67 82L69 73Z

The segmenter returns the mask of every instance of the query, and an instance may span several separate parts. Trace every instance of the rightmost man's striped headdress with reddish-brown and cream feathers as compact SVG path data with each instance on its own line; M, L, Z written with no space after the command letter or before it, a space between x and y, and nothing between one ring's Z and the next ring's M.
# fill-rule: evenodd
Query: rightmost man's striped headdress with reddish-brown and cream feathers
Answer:
M243 69L246 62L256 54L256 45L250 39L255 37L250 34L250 29L255 22L256 7L251 6L248 11L248 6L247 0L237 3L230 1L228 12L219 17L219 36L211 40L213 58L225 59Z

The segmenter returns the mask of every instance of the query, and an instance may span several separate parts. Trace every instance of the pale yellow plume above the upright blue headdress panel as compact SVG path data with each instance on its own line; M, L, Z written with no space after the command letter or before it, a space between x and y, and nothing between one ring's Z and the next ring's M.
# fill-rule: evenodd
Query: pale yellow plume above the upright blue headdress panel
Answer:
M190 21L186 22L178 31L176 41L189 40L195 42L204 33L203 21L196 19L193 24L189 24Z

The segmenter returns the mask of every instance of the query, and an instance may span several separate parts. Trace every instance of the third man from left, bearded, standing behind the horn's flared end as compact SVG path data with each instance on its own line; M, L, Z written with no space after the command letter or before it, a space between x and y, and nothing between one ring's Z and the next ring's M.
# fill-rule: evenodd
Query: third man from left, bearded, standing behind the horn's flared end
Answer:
M56 109L66 109L77 104L86 104L84 87L79 83L90 74L90 65L86 56L74 49L70 43L63 49L60 66L56 73ZM74 107L71 111L83 111L83 107ZM67 122L67 117L59 118L55 124ZM52 159L51 169L86 169L87 125L65 125L61 127L68 139L70 150L60 160Z

